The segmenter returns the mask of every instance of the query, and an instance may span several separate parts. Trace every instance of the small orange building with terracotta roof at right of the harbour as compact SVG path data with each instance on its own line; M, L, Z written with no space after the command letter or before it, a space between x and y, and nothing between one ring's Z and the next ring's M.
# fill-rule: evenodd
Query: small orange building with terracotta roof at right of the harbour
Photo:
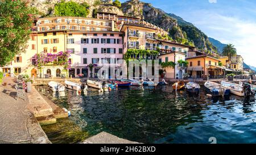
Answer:
M193 56L186 58L188 61L187 72L192 77L201 78L202 75L209 75L210 78L222 76L222 68L218 66L220 60L207 55Z

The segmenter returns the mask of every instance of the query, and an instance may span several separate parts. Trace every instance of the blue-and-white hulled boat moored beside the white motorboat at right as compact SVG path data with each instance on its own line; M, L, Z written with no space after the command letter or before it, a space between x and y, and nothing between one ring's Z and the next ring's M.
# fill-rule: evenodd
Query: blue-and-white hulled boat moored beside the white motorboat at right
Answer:
M213 97L230 95L230 89L227 89L218 83L207 81L204 83L204 86L208 93L210 93Z

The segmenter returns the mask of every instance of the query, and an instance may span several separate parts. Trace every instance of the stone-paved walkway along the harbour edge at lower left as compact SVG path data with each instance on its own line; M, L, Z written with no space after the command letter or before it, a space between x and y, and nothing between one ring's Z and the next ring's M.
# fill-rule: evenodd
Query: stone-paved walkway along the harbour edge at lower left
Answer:
M14 78L0 86L0 143L51 143L32 112L28 100L16 98Z

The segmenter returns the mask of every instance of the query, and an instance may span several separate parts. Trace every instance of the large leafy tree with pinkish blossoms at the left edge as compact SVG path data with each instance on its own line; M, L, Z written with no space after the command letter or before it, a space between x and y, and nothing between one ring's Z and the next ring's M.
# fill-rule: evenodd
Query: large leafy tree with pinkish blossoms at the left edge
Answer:
M0 66L26 51L35 15L27 1L0 1Z

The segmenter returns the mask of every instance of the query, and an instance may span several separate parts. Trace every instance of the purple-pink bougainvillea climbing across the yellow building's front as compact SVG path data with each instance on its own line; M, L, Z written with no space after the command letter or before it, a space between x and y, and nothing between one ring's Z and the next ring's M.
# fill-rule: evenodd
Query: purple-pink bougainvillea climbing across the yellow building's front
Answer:
M71 56L70 51L59 52L57 54L41 53L32 57L33 65L39 69L42 66L64 66L65 69L70 69L71 62L68 58Z

